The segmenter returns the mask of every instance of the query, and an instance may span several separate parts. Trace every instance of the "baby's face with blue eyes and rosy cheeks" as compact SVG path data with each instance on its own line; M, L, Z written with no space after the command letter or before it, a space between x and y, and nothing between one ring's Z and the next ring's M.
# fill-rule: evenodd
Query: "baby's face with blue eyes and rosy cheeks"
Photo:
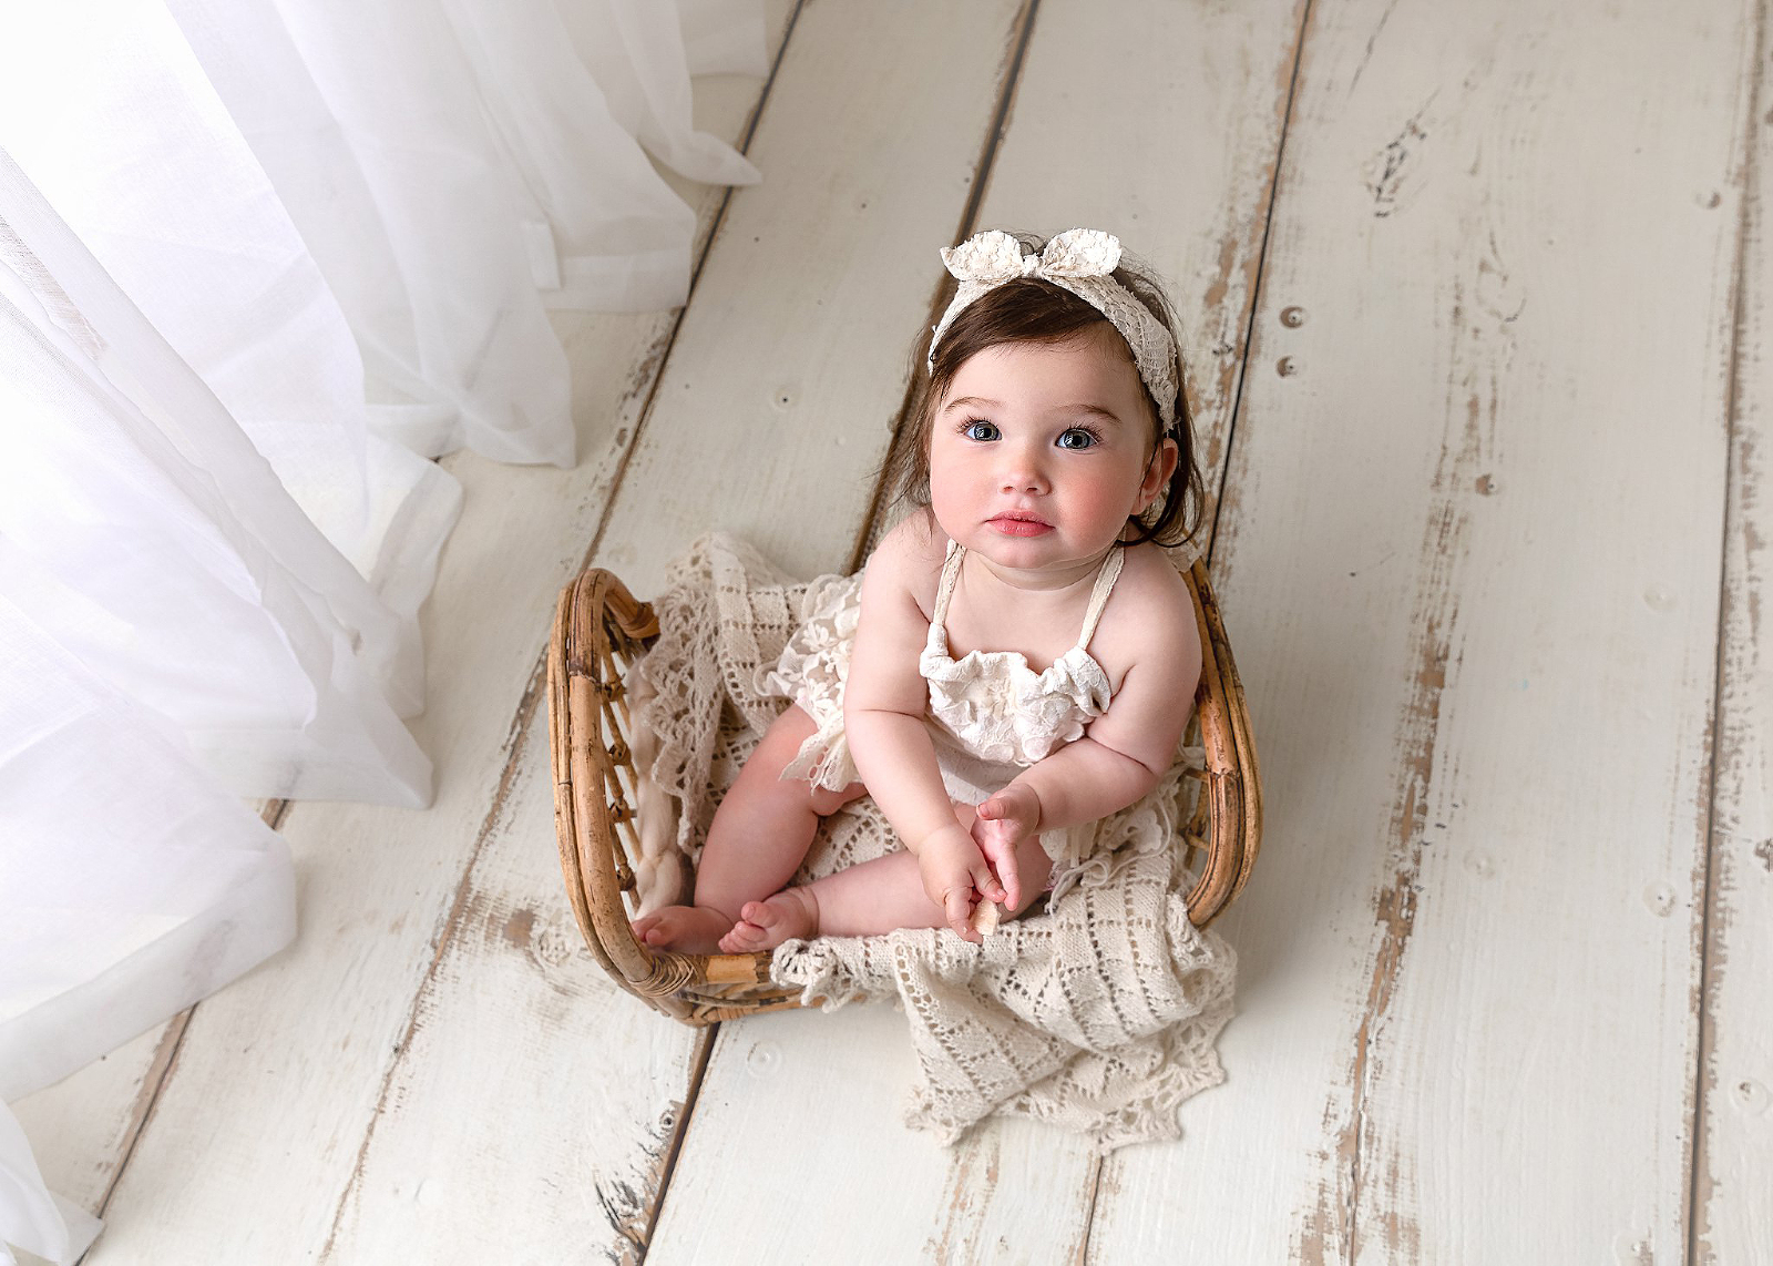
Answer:
M929 429L941 528L1002 567L1062 573L1101 557L1163 489L1175 442L1156 424L1119 335L1011 342L961 365Z

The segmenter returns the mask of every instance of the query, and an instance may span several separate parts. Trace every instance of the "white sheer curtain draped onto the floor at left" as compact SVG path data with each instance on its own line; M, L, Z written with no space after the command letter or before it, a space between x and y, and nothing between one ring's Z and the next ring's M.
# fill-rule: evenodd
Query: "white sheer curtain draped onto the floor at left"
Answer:
M287 943L239 796L422 807L427 461L571 465L548 307L681 303L759 0L66 0L0 39L0 1099ZM642 149L644 147L644 149ZM0 1259L69 1259L0 1108Z

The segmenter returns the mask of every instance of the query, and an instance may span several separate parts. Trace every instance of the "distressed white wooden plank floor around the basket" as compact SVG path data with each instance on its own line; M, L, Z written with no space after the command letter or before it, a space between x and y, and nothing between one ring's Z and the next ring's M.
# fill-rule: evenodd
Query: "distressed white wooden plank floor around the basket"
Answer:
M578 470L447 459L424 814L268 812L298 943L18 1105L122 1262L1773 1261L1773 0L773 0ZM1097 1161L899 1124L886 1007L691 1032L555 864L541 649L867 539L936 246L1170 280L1268 832L1229 1080Z

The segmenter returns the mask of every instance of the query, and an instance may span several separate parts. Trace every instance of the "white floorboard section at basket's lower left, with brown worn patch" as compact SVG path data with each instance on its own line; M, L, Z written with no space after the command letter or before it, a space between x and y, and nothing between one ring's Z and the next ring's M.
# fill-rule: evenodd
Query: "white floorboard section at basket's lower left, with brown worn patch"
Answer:
M697 1035L585 949L548 846L546 752L537 707L323 1262L638 1257Z

